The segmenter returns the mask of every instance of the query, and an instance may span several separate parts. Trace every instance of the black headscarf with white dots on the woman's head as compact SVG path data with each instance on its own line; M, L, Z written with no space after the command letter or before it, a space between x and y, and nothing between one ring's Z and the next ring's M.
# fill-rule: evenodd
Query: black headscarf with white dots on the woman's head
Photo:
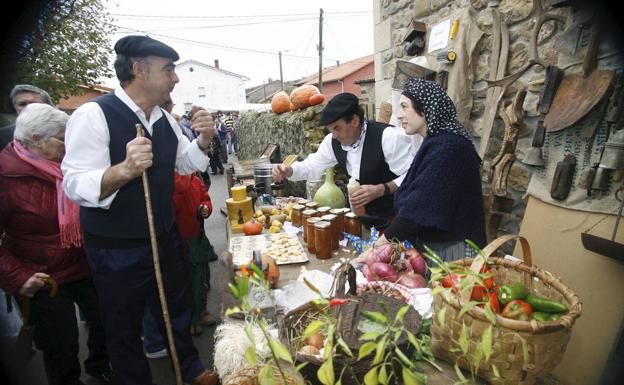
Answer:
M433 136L440 131L447 131L472 140L468 131L457 120L453 101L437 83L410 78L405 83L403 95L422 106L427 122L427 135Z

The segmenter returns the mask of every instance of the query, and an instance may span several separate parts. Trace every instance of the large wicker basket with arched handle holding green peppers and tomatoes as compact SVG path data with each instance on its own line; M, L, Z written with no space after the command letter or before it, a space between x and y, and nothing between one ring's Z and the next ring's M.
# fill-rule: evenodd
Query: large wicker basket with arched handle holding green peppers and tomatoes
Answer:
M512 262L502 258L490 258L490 256L504 243L518 239L522 245L524 263ZM498 284L522 282L527 289L534 294L560 301L564 303L569 312L557 321L538 322L519 321L497 315L497 327L493 328L492 340L493 352L487 363L482 363L478 375L491 384L518 384L532 385L540 377L550 373L563 359L566 346L570 340L570 333L575 320L581 314L581 302L578 296L570 290L560 279L550 273L532 266L531 249L527 240L520 236L502 236L487 245L483 252L489 265L494 281ZM473 271L479 271L482 259L475 260L466 258L456 261L457 264L470 266ZM439 282L433 282L434 287L440 287ZM466 293L469 296L470 290ZM431 350L436 357L451 364L456 361L460 367L468 369L469 365L461 353L451 351L454 343L461 334L462 323L468 328L471 341L480 341L481 333L491 325L485 316L483 309L475 307L469 310L462 318L459 312L466 298L459 296L450 300L436 295L433 301L433 322L431 325ZM444 328L441 327L437 313L446 306L444 315ZM528 347L528 360L524 362L521 341L514 335L520 335ZM501 341L502 344L496 344ZM470 343L469 354L474 352L476 343ZM500 376L497 378L492 371L491 364L496 365Z

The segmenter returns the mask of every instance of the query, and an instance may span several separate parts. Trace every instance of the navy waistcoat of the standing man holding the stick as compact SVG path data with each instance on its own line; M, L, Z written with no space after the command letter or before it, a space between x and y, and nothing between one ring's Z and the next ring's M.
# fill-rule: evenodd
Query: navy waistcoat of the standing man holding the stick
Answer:
M110 133L111 166L126 158L126 144L136 137L136 114L114 94L93 100L104 112ZM159 108L159 107L154 107ZM163 116L152 126L152 135L143 130L152 141L154 163L148 169L152 211L156 234L171 229L174 223L173 187L178 138ZM139 176L122 186L108 210L80 208L80 224L85 233L100 237L122 239L149 238L143 180Z

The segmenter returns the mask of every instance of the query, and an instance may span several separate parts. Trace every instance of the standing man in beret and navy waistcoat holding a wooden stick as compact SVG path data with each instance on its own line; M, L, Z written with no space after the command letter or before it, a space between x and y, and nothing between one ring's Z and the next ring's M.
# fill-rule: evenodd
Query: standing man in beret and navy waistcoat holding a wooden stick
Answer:
M215 134L200 111L191 120L192 142L159 107L178 82L173 48L147 36L115 44L121 87L78 108L67 124L62 163L64 188L81 205L80 224L106 329L111 365L123 385L151 384L141 343L144 310L162 311L157 295L141 175L149 177L154 227L165 294L182 376L192 384L216 384L204 369L190 335L189 264L184 260L172 206L174 170L204 171ZM144 127L137 137L136 124Z

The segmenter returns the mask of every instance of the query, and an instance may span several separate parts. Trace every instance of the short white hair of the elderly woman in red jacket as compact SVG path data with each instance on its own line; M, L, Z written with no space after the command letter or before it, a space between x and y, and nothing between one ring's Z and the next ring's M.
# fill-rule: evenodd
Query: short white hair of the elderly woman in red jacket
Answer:
M13 137L23 144L32 144L34 134L48 139L58 134L69 120L69 115L48 104L32 103L15 120Z

